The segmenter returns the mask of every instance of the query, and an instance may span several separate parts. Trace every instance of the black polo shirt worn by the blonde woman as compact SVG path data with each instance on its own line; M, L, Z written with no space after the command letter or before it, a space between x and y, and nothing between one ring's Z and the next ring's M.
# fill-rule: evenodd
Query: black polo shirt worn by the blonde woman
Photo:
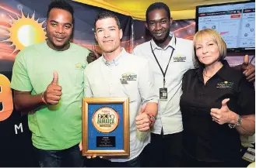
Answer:
M204 84L203 67L188 70L183 78L181 113L184 125L184 151L200 161L222 162L239 156L240 135L228 124L212 121L211 108L221 108L223 99L238 115L255 114L254 85L229 66L223 67Z

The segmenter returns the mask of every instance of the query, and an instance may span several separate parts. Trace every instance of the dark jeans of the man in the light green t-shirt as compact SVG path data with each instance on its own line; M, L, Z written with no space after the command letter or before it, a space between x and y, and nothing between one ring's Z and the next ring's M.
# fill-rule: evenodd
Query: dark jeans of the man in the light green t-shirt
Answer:
M40 167L81 167L84 157L79 150L79 145L63 150L44 150L34 147Z

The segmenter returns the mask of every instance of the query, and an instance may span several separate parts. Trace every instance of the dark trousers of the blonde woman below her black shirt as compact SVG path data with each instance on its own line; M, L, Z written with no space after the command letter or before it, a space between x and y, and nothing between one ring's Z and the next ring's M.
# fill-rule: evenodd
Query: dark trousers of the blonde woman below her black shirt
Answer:
M195 158L192 158L187 153L183 153L182 164L183 167L244 167L241 163L241 158L237 157L230 159L225 162L205 162L198 161Z

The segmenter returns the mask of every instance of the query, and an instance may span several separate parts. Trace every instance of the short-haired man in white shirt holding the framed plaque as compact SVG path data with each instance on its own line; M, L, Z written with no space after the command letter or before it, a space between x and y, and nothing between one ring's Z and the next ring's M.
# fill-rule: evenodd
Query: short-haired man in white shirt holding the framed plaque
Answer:
M94 166L141 166L139 156L150 142L149 129L157 114L158 103L149 61L121 48L123 33L116 15L110 12L97 15L95 31L103 57L85 69L85 95L93 98L129 98L130 156L111 157L107 161L98 159ZM145 104L145 111L139 112L141 105Z

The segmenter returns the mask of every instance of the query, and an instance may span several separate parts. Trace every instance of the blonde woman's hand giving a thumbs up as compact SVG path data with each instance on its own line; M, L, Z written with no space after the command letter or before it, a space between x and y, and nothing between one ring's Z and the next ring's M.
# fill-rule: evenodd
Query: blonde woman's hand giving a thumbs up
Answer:
M217 122L219 125L225 123L230 123L235 114L233 111L230 111L230 108L226 103L230 101L230 98L226 98L222 101L221 108L212 108L210 115L212 115L212 121Z

